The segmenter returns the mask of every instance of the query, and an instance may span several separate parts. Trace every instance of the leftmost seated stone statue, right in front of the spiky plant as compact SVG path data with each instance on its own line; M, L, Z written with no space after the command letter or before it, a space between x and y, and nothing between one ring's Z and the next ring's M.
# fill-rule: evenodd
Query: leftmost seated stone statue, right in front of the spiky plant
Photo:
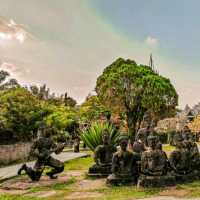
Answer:
M89 168L89 176L107 177L111 173L111 164L116 147L110 144L108 130L102 134L103 145L96 147L94 151L95 165Z

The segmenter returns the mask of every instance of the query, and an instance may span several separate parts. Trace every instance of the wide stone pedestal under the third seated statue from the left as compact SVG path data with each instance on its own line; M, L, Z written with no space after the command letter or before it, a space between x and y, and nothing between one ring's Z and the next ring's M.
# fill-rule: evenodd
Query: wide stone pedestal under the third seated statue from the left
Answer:
M141 175L138 179L138 187L165 187L176 184L176 178L173 175L165 176L145 176Z

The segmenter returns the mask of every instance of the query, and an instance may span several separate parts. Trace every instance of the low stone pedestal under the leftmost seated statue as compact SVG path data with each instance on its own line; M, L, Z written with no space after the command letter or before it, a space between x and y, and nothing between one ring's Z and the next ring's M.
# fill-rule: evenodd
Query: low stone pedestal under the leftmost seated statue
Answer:
M107 177L109 174L111 174L111 165L108 166L99 166L99 165L93 165L89 168L88 176L91 177Z

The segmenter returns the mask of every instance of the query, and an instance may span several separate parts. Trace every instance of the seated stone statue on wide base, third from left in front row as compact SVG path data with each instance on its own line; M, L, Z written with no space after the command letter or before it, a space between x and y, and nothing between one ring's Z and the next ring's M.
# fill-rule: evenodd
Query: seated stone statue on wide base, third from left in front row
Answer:
M147 138L149 150L142 153L141 176L138 186L170 186L175 184L175 177L168 173L169 162L167 155L162 151L162 146L158 147L158 138L150 135Z

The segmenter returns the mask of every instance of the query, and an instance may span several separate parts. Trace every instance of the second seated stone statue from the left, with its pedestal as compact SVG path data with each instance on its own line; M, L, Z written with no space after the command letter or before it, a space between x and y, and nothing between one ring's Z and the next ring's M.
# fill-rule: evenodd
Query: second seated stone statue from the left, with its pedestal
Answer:
M138 154L127 150L128 137L121 136L120 150L113 155L112 174L107 183L111 185L136 184L138 178Z

